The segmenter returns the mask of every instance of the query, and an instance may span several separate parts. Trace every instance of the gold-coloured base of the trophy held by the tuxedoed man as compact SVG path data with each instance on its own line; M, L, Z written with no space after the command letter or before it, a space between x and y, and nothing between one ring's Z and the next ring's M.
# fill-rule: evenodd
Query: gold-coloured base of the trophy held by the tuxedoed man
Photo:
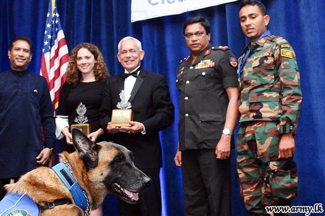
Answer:
M114 109L111 112L111 127L130 127L129 121L133 121L133 110L131 109Z

